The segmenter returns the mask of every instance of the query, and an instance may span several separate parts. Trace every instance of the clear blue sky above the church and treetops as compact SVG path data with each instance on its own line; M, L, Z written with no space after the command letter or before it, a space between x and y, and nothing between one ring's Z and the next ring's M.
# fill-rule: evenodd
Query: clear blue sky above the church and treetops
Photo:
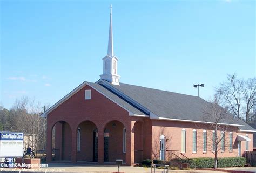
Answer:
M1 103L53 105L95 82L110 4L121 82L204 99L237 73L255 76L255 1L0 1Z

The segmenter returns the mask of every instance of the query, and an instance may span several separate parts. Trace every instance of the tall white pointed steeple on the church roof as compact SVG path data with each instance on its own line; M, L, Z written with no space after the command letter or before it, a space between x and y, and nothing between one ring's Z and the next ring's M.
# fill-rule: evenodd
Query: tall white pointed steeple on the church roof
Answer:
M103 58L103 74L100 79L109 81L111 84L119 85L120 76L117 75L117 56L114 56L113 32L112 32L112 5L110 6L109 45L107 55Z

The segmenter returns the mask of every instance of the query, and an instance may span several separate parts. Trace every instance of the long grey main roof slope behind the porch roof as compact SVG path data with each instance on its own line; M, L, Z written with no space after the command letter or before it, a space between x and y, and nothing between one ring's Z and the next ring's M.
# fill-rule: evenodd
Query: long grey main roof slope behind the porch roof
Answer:
M204 117L203 110L210 104L198 96L161 91L159 89L123 83L119 85L112 85L107 81L103 81L103 83L116 88L162 120L201 122ZM232 119L231 115L230 118ZM224 121L222 123L229 124L231 121L226 120L226 122ZM255 129L240 119L234 119L231 125L238 126L241 132L255 131Z

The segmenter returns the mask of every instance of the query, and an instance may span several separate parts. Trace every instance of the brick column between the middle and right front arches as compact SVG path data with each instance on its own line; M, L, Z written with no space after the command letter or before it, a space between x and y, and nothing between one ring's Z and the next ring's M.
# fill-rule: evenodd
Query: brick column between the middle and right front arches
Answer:
M104 163L104 128L98 128L98 163Z

